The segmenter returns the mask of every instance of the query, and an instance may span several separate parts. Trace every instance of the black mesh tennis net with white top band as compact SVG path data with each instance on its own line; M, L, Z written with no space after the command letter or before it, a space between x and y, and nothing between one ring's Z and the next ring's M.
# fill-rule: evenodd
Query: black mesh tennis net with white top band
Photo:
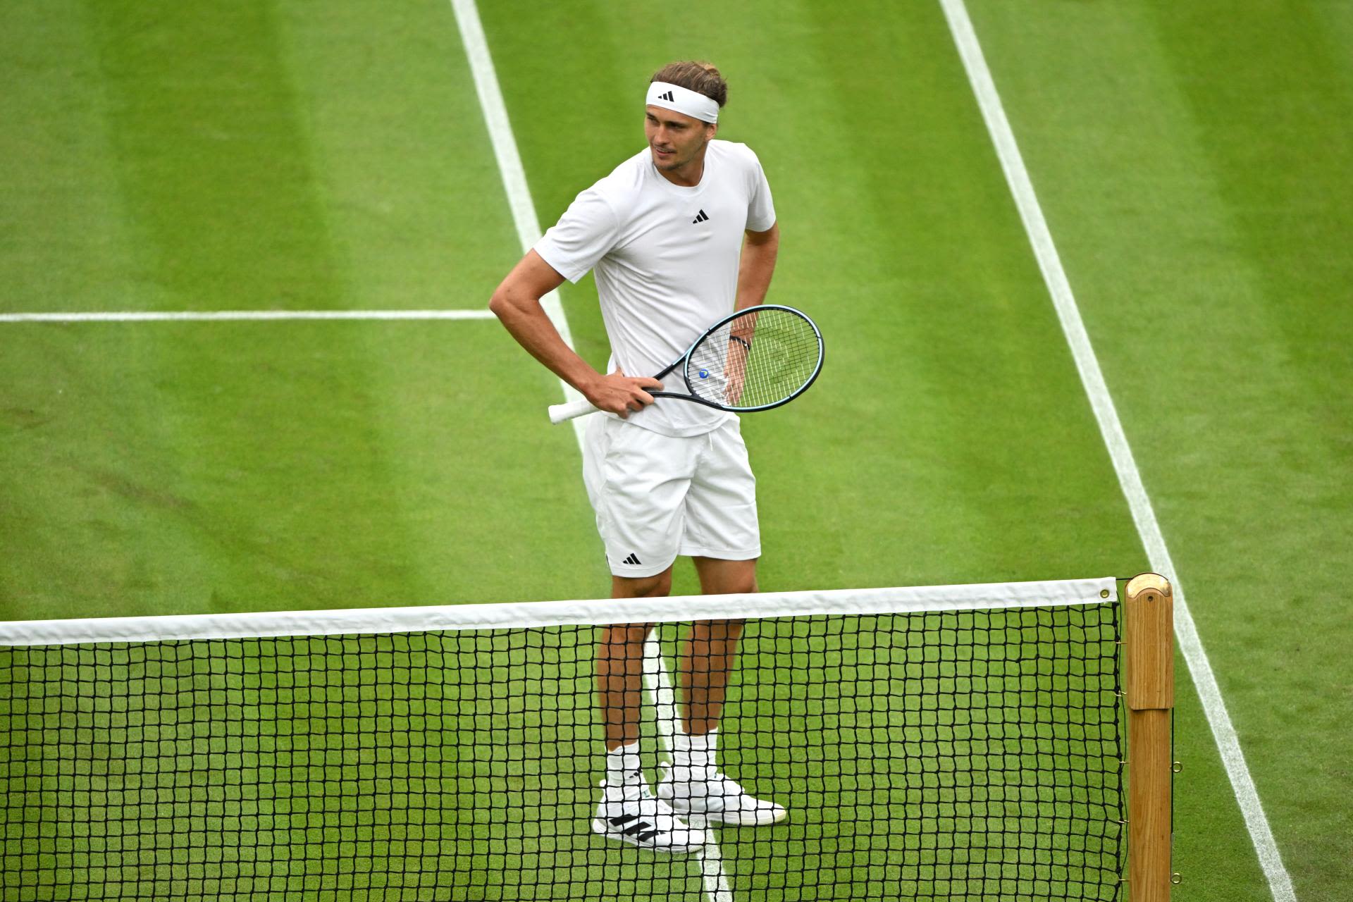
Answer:
M591 832L598 625L747 619L718 765L789 817ZM1116 899L1115 580L0 623L7 899Z

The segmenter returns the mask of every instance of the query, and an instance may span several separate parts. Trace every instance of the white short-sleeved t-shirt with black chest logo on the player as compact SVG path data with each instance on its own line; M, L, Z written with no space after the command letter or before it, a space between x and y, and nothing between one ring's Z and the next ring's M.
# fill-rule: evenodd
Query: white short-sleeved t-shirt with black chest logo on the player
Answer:
M766 173L747 145L710 141L694 188L664 179L645 147L578 195L536 253L570 281L595 269L609 368L653 376L733 312L743 233L774 224ZM681 368L663 377L663 391L686 394ZM629 422L664 435L700 435L731 417L659 398Z

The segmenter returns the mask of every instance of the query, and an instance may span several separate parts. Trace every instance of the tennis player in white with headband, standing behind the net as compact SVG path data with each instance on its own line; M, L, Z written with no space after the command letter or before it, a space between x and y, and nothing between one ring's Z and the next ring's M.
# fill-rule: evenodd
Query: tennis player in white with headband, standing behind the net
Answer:
M583 481L606 548L613 598L671 591L679 554L706 594L755 592L756 480L737 417L676 399L653 403L662 372L713 322L762 303L779 229L770 185L746 145L717 141L728 84L701 62L653 74L648 146L583 191L494 292L513 337L595 407ZM594 270L610 338L607 373L560 339L540 299ZM740 341L733 338L732 341ZM666 391L685 391L668 379ZM606 779L593 829L643 848L690 852L700 821L774 824L785 809L750 795L717 765L717 732L740 621L702 622L682 649L682 722L656 794L640 771L643 646L651 623L603 629L597 690Z

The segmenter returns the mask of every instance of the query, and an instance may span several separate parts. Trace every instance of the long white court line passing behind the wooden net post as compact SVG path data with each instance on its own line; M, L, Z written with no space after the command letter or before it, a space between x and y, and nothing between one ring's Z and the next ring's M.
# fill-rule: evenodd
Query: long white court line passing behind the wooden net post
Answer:
M1122 485L1123 495L1127 498L1128 507L1132 511L1132 521L1137 523L1137 531L1142 538L1142 545L1146 548L1151 569L1169 579L1170 586L1174 588L1174 633L1178 637L1180 650L1188 663L1193 684L1197 687L1199 699L1203 702L1203 711L1207 714L1207 722L1212 728L1212 736L1216 740L1222 764L1226 767L1226 774L1231 780L1231 787L1235 791L1235 799L1245 817L1250 840L1254 842L1254 851L1258 853L1260 865L1268 878L1269 890L1277 902L1296 902L1292 878L1283 865L1283 857L1273 838L1273 830L1269 828L1264 806L1260 803L1258 790L1254 787L1254 778L1250 776L1249 767L1245 764L1245 753L1241 751L1239 737L1231 725L1230 714L1226 711L1220 687L1216 684L1216 676L1212 673L1207 653L1203 650L1203 642L1199 638L1197 626L1193 623L1193 615L1189 614L1188 602L1184 600L1184 588L1180 584L1178 575L1174 572L1174 563L1170 560L1170 552L1165 546L1161 526L1155 521L1151 499L1142 484L1142 476L1137 469L1132 450L1127 444L1127 434L1119 422L1118 411L1114 407L1108 385L1104 381L1104 375L1100 372L1099 360L1095 356L1095 349L1091 346L1089 334L1081 322L1076 298L1072 295L1072 287L1066 279L1066 272L1062 269L1061 257L1057 253L1057 246L1053 243L1047 222L1043 219L1038 196L1034 193L1034 183L1030 181L1028 172L1024 169L1024 160L1020 156L1019 146L1015 143L1015 133L1005 118L1005 110L1001 105L1000 95L996 92L996 82L992 80L992 73L986 68L986 60L982 55L981 45L977 42L977 32L973 30L971 19L967 16L967 8L963 5L963 0L939 1L944 9L944 16L948 19L948 27L954 35L954 43L958 46L958 53L963 60L963 68L967 70L973 93L977 95L977 103L981 107L982 118L986 120L986 128L990 131L992 142L996 145L996 154L1000 157L1001 169L1005 170L1005 180L1009 183L1011 193L1015 196L1020 219L1024 220L1024 230L1028 233L1030 243L1034 246L1034 254L1038 257L1043 280L1047 283L1047 289L1053 296L1053 306L1057 308L1062 331L1066 333L1072 356L1076 358L1076 368L1081 375L1081 383L1085 385L1085 394L1089 396L1091 408L1095 411L1095 419L1099 422L1104 444L1108 446L1114 469L1118 472L1119 485Z

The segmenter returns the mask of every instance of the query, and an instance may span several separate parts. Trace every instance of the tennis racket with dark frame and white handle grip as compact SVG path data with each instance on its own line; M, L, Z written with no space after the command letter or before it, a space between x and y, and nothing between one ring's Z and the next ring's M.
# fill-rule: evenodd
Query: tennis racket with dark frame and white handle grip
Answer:
M823 334L802 312L779 304L739 310L720 319L653 379L681 369L683 392L649 392L736 414L794 400L823 371ZM549 422L594 414L586 400L552 404Z

